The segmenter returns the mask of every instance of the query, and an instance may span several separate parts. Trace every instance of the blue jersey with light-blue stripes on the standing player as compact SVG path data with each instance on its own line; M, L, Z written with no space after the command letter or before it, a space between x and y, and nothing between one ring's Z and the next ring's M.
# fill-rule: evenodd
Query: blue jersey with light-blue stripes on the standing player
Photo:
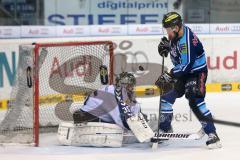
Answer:
M184 34L177 41L171 41L170 57L174 77L207 71L205 51L198 37L183 25Z

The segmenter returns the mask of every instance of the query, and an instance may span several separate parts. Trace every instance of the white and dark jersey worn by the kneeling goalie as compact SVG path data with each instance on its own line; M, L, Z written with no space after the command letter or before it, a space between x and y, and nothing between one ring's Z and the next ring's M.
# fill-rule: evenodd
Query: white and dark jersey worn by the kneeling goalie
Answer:
M116 92L116 86L109 85L92 93L85 101L82 111L88 112L108 123L128 128L126 119L140 112L140 104L130 101L125 88ZM119 102L118 99L121 99Z

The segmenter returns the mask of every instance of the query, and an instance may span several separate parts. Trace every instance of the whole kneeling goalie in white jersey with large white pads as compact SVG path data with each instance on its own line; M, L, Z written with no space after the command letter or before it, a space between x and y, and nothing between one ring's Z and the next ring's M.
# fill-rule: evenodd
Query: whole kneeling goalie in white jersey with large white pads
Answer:
M64 145L121 147L123 131L131 130L139 142L153 137L134 94L135 77L123 72L115 85L91 93L84 105L73 103L74 124L62 123L58 138Z

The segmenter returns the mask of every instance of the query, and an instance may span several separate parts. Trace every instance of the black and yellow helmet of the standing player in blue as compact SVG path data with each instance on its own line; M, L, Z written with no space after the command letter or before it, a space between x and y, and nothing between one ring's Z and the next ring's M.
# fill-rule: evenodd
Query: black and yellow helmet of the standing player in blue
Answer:
M164 28L182 26L182 18L177 12L169 12L163 16L162 25Z

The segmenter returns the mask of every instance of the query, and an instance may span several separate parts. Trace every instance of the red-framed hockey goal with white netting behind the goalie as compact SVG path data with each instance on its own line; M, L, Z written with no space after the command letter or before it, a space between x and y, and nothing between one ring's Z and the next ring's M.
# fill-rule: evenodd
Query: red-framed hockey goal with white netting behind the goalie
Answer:
M71 103L113 82L110 41L21 45L0 143L38 146L39 133L72 121Z

